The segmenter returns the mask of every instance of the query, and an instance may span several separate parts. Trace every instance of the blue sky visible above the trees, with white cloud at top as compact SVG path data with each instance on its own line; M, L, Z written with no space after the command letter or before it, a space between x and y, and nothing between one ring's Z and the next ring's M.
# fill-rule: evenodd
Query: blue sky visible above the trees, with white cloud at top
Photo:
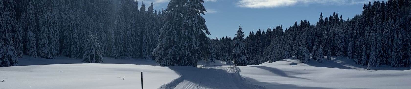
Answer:
M140 2L141 0L139 0ZM318 21L320 13L330 16L334 12L344 20L360 14L364 2L369 0L204 0L208 13L208 37L234 37L238 25L244 34L250 31L267 30L268 27L282 25L285 30L295 21L308 20L311 24ZM169 0L144 0L153 3L155 8L166 8Z

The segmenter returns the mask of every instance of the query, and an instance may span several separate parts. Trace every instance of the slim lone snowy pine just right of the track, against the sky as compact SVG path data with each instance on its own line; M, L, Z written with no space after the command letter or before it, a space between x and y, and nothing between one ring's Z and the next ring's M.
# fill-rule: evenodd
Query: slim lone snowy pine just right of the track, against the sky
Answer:
M238 27L236 37L234 37L233 41L233 52L231 55L231 59L234 61L234 65L236 66L247 66L247 52L245 52L245 45L244 45L244 32L242 32L241 26Z

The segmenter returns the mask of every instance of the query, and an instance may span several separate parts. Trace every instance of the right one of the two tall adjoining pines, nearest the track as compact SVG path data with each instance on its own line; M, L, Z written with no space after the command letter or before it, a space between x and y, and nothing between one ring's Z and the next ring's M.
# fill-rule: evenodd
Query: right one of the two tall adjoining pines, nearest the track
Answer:
M181 54L179 58L182 61L178 63L181 66L197 66L198 60L206 61L210 55L210 42L207 37L210 32L205 25L205 19L201 16L206 11L202 3L204 3L203 0L189 0L183 6L186 9L181 14L186 21L182 23L183 29L179 37L178 49Z

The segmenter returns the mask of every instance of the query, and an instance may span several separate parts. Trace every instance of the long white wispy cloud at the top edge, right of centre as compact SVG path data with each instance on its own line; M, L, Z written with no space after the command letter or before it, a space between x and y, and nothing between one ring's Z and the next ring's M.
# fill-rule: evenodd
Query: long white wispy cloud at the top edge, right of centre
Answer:
M273 8L298 4L354 5L364 3L365 1L366 0L240 0L237 2L237 6L247 8Z

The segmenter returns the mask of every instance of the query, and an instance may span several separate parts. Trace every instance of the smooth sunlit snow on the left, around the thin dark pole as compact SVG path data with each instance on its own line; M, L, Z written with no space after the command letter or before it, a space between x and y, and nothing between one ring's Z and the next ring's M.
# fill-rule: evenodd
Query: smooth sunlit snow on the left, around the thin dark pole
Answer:
M12 66L0 68L0 80L5 80L0 89L139 89L141 71L145 89L180 76L167 67L135 64Z

